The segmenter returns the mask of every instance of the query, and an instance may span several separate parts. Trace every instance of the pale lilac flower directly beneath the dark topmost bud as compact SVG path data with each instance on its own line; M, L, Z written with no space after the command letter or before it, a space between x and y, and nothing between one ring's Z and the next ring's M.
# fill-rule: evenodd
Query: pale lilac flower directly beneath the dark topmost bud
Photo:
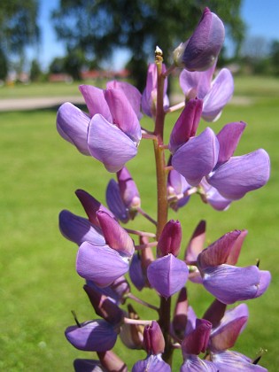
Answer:
M203 100L202 118L206 121L218 120L221 111L228 104L234 91L234 81L228 68L222 68L213 79L215 64L204 72L182 70L180 85L186 102L198 97Z

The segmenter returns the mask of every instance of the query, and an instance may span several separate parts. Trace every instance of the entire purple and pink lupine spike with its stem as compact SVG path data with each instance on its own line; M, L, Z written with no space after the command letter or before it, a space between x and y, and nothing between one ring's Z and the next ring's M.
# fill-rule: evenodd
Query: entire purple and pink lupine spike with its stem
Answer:
M133 372L170 371L178 348L181 371L266 370L257 364L258 359L229 350L249 314L244 303L228 306L260 297L271 280L259 265L236 266L247 230L234 229L206 247L205 221L200 221L181 252L182 224L167 218L169 207L178 211L194 194L214 209L225 210L269 178L265 150L234 156L246 127L243 121L228 123L218 134L208 127L197 135L200 120L218 120L233 93L228 69L213 78L223 40L221 19L205 8L190 39L174 50L173 66L167 69L161 51L156 51L143 95L128 82L110 81L106 89L81 85L89 112L70 103L58 110L58 133L116 174L106 188L107 207L87 191L76 190L87 217L66 210L59 214L62 235L78 245L76 271L85 279L84 291L98 316L79 322L74 314L76 324L66 329L74 347L96 352L98 357L74 360L76 371L128 370L112 351L118 337L129 349L143 349L147 354L136 361ZM182 69L185 99L171 107L167 76L174 68ZM182 112L164 143L164 118L179 108ZM153 131L141 128L143 114L154 120ZM154 147L157 219L143 211L140 192L126 165L136 156L142 138ZM122 226L138 215L150 221L155 231ZM138 236L138 244L131 236ZM159 306L151 304L152 298L137 298L125 275L138 291L153 289ZM202 318L189 305L190 282L213 296ZM151 319L140 319L132 301L154 311Z

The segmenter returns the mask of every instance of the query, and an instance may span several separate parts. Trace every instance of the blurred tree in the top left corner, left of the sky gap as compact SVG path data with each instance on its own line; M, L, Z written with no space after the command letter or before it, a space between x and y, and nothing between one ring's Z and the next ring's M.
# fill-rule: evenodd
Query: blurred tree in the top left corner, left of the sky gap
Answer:
M22 56L27 45L39 40L37 0L1 0L0 49L6 56Z

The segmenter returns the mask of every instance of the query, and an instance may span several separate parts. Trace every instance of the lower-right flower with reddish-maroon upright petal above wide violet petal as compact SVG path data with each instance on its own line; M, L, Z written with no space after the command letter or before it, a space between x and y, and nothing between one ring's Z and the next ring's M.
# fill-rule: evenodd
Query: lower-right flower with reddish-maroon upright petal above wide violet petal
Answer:
M246 232L221 236L198 255L198 269L205 289L224 304L260 297L271 275L259 267L235 267Z

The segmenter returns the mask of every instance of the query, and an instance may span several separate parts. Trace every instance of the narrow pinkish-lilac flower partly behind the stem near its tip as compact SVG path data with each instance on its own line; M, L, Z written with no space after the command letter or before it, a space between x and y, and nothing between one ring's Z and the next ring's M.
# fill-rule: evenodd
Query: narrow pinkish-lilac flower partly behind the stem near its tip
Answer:
M162 66L162 73L167 71L166 66L163 64ZM155 118L156 116L156 107L157 107L157 66L155 63L152 63L148 66L147 72L147 79L146 79L146 87L143 90L143 97L142 97L142 109L143 112L150 116L151 118ZM164 84L164 109L167 110L169 105L168 97L167 97L167 79L165 80Z

